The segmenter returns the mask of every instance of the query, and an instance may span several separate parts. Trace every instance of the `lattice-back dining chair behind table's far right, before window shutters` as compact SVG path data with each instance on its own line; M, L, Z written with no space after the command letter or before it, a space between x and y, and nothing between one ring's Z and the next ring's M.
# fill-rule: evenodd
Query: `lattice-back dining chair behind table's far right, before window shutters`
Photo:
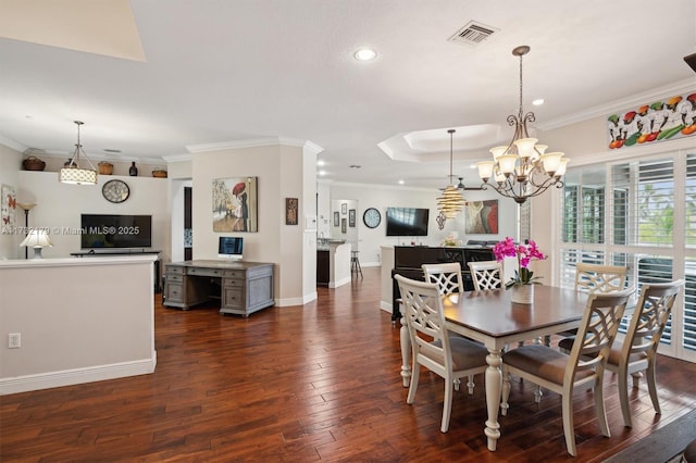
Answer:
M575 290L589 293L611 292L624 289L629 268L622 265L601 265L579 262L575 265ZM570 353L577 330L559 333L566 336L558 341L561 352ZM546 345L550 343L550 339Z

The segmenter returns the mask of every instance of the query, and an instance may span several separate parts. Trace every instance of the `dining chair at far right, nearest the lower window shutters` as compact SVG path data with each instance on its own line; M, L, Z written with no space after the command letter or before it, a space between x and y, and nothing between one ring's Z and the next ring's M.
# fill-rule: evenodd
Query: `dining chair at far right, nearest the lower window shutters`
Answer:
M661 413L655 383L657 348L683 286L683 279L643 285L641 298L631 314L625 337L622 341L616 340L611 346L607 370L619 375L621 413L626 427L632 427L627 391L629 375L633 375L633 387L637 388L641 372L645 371L652 408L655 413Z

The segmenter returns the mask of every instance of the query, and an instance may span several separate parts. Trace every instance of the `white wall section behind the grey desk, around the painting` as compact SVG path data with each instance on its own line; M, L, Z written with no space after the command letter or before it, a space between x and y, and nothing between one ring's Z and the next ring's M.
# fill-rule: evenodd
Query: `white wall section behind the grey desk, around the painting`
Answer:
M192 157L194 259L216 259L212 227L212 180L258 177L258 232L244 237L244 259L272 262L277 305L315 298L315 233L303 230L304 215L315 214L315 153L302 145L248 146L198 152ZM306 167L309 165L311 167ZM310 178L306 178L306 177ZM285 224L285 199L298 199L298 225ZM228 234L227 234L228 235ZM311 261L308 261L311 259Z

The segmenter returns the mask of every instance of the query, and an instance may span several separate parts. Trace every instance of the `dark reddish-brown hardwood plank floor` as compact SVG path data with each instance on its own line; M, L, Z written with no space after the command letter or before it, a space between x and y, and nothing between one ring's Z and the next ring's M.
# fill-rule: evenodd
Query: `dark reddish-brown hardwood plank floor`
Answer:
M513 384L498 450L483 434L483 377L455 395L439 431L443 380L424 372L413 405L401 387L399 329L378 309L380 271L341 288L318 289L304 306L249 318L214 306L188 312L156 303L157 371L0 398L0 461L500 461L573 460L560 400ZM575 395L579 456L599 462L696 408L696 364L660 358L662 414L645 384L630 392L624 428L617 377L607 374L611 437L599 433L592 392Z

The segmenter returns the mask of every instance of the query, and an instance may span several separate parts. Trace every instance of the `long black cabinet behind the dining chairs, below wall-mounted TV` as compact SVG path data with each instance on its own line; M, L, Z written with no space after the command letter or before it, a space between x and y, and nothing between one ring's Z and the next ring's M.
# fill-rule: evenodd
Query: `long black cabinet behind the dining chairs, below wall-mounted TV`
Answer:
M461 276L464 283L464 290L474 289L469 262L494 261L496 258L490 248L481 246L463 248L431 248L426 246L395 246L394 247L394 270L391 270L391 321L397 321L399 304L397 299L399 286L394 279L394 275L403 275L407 278L424 281L422 264L443 264L458 262L461 265Z

